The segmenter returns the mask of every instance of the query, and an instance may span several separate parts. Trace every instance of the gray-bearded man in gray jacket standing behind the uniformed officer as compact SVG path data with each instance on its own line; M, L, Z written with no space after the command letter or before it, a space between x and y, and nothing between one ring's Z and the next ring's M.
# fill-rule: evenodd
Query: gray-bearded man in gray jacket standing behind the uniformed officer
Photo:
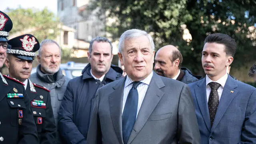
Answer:
M58 130L58 110L70 80L60 69L60 46L54 40L43 40L40 43L37 59L40 64L36 68L36 73L30 75L30 80L50 90L52 110ZM57 131L57 143L62 144L61 140Z

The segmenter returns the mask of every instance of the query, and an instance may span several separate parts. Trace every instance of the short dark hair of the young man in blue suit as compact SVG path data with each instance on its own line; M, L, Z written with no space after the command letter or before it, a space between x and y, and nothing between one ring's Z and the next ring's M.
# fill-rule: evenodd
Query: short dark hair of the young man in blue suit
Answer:
M208 43L217 43L217 44L224 44L225 45L225 52L229 56L233 56L236 53L236 42L233 38L228 36L227 34L215 33L208 35L205 40L204 44Z

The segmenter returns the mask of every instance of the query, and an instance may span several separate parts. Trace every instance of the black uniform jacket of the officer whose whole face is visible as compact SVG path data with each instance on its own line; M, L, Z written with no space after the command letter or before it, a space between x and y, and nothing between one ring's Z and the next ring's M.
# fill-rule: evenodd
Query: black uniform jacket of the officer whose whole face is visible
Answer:
M26 93L30 98L39 143L54 144L56 139L56 125L52 112L50 91L28 80Z

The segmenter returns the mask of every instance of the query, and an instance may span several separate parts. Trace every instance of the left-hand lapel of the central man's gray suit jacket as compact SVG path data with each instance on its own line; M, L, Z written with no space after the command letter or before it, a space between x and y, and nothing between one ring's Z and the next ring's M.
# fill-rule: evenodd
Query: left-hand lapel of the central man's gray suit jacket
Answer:
M110 115L120 144L124 143L122 137L122 101L125 80L126 78L123 78L113 86L114 91L109 96Z

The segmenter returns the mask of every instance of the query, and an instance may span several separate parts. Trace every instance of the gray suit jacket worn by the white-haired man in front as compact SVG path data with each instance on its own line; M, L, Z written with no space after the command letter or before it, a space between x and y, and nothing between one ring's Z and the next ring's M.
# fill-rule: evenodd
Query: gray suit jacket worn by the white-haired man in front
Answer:
M98 89L88 144L123 144L122 98L126 78ZM128 144L200 144L189 88L153 74Z

